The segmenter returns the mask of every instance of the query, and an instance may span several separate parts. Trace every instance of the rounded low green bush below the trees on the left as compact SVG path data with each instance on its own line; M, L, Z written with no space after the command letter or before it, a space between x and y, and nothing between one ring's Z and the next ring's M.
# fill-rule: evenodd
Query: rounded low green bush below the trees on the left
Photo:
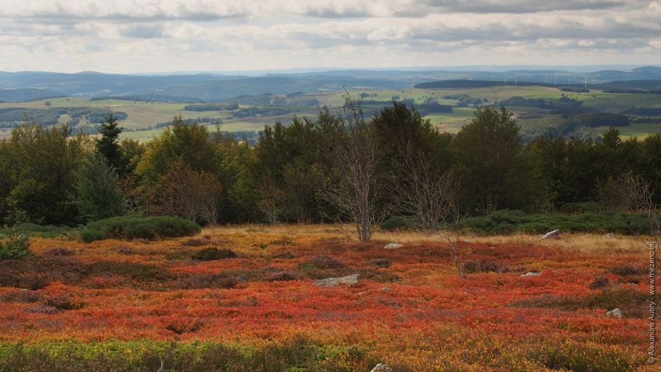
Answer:
M172 216L120 216L90 222L80 231L85 242L102 239L158 239L184 237L200 232L196 223Z

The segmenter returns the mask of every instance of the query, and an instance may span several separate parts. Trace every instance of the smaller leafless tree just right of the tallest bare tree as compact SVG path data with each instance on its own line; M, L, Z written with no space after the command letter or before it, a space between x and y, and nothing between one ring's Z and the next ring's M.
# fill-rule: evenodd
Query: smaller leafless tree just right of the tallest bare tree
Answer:
M433 167L422 151L406 146L393 180L397 208L413 214L424 230L435 231L456 210L458 185L449 171Z

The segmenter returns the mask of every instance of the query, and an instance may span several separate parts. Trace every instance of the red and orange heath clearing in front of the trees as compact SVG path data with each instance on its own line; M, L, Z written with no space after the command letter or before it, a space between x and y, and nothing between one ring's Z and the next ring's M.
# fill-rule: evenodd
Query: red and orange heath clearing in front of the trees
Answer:
M439 235L348 225L31 250L0 261L0 371L658 371L636 237L463 235L465 278Z

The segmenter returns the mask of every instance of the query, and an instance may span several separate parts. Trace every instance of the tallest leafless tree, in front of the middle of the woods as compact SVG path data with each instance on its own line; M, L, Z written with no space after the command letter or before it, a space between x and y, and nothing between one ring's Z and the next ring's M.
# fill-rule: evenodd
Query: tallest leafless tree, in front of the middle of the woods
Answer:
M387 209L381 203L385 189L379 172L381 153L377 138L363 117L361 101L346 93L332 133L332 173L323 177L321 196L349 217L361 241L368 241Z

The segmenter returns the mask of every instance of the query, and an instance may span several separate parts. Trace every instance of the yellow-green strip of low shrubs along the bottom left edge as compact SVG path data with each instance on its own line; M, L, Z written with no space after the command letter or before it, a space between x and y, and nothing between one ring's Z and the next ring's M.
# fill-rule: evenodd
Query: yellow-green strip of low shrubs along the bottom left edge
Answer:
M170 323L174 333L204 328ZM382 358L358 345L323 345L296 338L259 346L195 341L79 341L0 344L0 371L369 371ZM394 368L400 367L398 364ZM397 371L402 370L397 368Z

